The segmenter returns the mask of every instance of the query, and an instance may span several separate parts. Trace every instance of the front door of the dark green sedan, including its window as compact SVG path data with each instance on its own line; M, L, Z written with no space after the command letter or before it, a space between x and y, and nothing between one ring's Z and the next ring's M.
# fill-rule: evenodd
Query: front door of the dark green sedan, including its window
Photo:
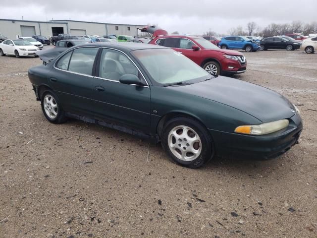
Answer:
M124 74L135 74L145 84L142 73L126 54L104 48L93 82L95 118L150 133L151 90L149 86L123 84Z

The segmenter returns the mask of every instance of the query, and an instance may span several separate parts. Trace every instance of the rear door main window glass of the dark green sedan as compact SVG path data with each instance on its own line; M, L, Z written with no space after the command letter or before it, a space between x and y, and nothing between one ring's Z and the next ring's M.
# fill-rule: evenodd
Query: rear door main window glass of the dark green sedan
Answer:
M98 48L78 48L75 49L71 56L68 70L76 73L92 75L95 57Z

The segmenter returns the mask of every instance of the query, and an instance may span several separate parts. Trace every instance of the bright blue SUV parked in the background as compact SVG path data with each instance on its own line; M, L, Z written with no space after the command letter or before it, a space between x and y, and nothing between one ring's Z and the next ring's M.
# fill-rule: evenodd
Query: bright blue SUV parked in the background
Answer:
M242 49L246 52L260 50L260 44L245 36L226 36L221 39L218 46L221 49Z

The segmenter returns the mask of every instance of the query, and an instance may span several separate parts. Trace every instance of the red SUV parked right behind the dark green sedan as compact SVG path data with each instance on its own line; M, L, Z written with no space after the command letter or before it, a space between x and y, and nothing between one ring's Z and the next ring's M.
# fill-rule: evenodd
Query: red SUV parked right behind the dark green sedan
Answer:
M244 73L247 69L242 53L222 50L201 36L163 35L149 44L172 48L213 75Z

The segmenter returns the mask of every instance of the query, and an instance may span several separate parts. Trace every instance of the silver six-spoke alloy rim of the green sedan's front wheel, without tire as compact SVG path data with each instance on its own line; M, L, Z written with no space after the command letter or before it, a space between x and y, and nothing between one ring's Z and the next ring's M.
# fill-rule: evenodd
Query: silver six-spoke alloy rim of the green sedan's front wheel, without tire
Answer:
M168 134L168 147L175 157L193 161L202 151L202 141L195 130L186 125L175 126Z

